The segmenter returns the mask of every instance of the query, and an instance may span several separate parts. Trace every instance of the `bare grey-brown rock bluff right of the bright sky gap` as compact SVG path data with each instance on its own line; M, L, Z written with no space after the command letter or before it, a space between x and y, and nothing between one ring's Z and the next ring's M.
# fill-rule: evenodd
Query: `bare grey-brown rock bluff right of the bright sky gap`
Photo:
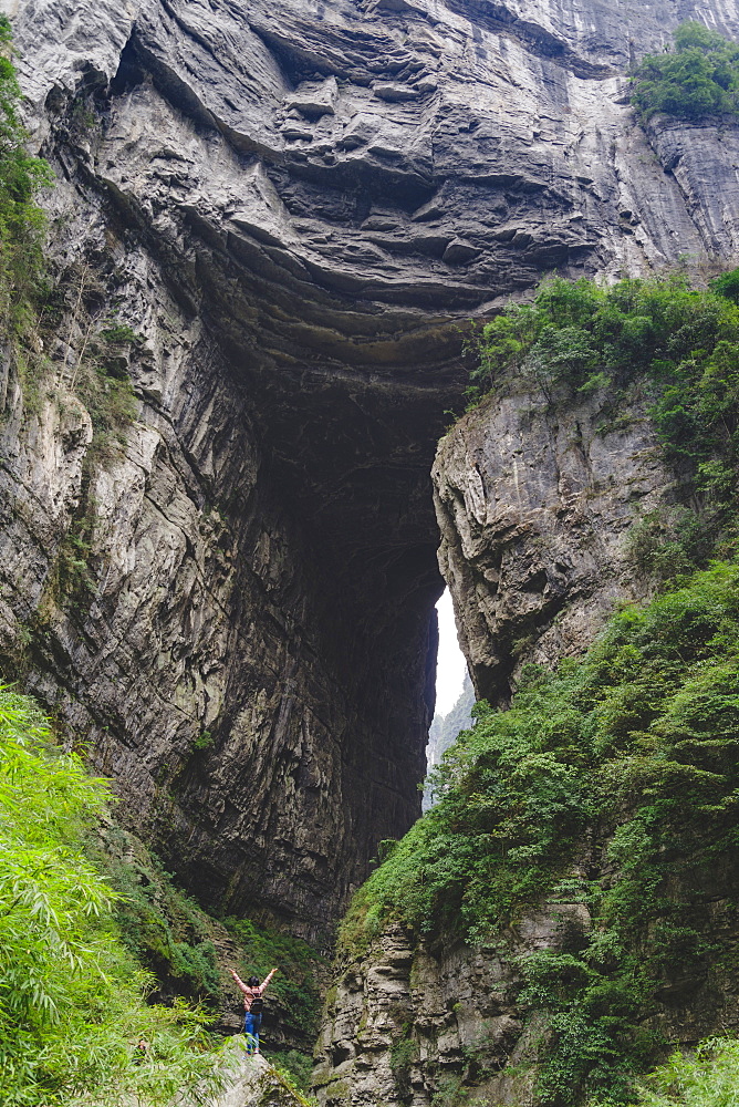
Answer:
M677 480L642 402L516 386L441 439L439 565L479 699L506 701L519 665L581 652L614 604L650 582L629 541L669 518Z

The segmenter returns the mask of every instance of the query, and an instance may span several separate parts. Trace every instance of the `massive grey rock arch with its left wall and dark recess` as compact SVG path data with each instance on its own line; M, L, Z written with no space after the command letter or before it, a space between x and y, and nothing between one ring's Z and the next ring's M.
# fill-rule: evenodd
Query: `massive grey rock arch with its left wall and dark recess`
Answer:
M645 133L626 71L736 6L6 10L67 293L49 381L2 369L9 669L192 890L316 935L419 810L458 323L735 256L736 125ZM112 324L136 416L101 456L75 366Z

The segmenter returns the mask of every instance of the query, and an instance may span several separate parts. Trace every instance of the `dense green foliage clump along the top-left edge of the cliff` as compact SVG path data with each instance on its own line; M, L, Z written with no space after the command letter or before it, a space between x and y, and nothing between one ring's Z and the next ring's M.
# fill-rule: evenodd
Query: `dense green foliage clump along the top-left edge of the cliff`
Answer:
M42 283L45 219L34 197L52 175L25 149L21 91L7 56L11 38L9 20L0 15L0 319L12 328L24 321L28 301Z

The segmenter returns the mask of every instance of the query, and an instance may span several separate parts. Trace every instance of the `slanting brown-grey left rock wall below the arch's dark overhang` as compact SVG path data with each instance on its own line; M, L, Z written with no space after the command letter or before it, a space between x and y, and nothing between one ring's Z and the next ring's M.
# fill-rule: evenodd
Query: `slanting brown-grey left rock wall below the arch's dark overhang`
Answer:
M162 289L142 268L119 297ZM128 364L137 418L125 452L84 472L69 366L52 361L33 406L9 371L7 655L201 896L315 935L417 807L430 557L373 566L363 583L392 610L363 622L341 549L266 476L249 400L200 325L159 292L126 318L146 335Z

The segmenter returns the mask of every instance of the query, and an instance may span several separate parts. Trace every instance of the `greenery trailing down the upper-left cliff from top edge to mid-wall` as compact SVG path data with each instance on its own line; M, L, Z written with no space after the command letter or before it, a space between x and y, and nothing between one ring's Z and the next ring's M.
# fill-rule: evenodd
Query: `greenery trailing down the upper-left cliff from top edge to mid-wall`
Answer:
M9 340L25 412L40 411L45 386L48 397L60 405L73 403L70 392L79 396L93 424L80 507L50 577L50 590L74 606L85 602L95 587L92 475L96 465L117 456L136 415L121 348L140 340L117 319L102 325L97 321L105 290L90 265L69 267L58 280L50 276L43 254L45 217L35 197L53 177L48 164L25 149L22 96L9 56L11 25L4 15L0 15L0 330ZM52 364L41 351L53 346L60 334L69 352L62 363Z

